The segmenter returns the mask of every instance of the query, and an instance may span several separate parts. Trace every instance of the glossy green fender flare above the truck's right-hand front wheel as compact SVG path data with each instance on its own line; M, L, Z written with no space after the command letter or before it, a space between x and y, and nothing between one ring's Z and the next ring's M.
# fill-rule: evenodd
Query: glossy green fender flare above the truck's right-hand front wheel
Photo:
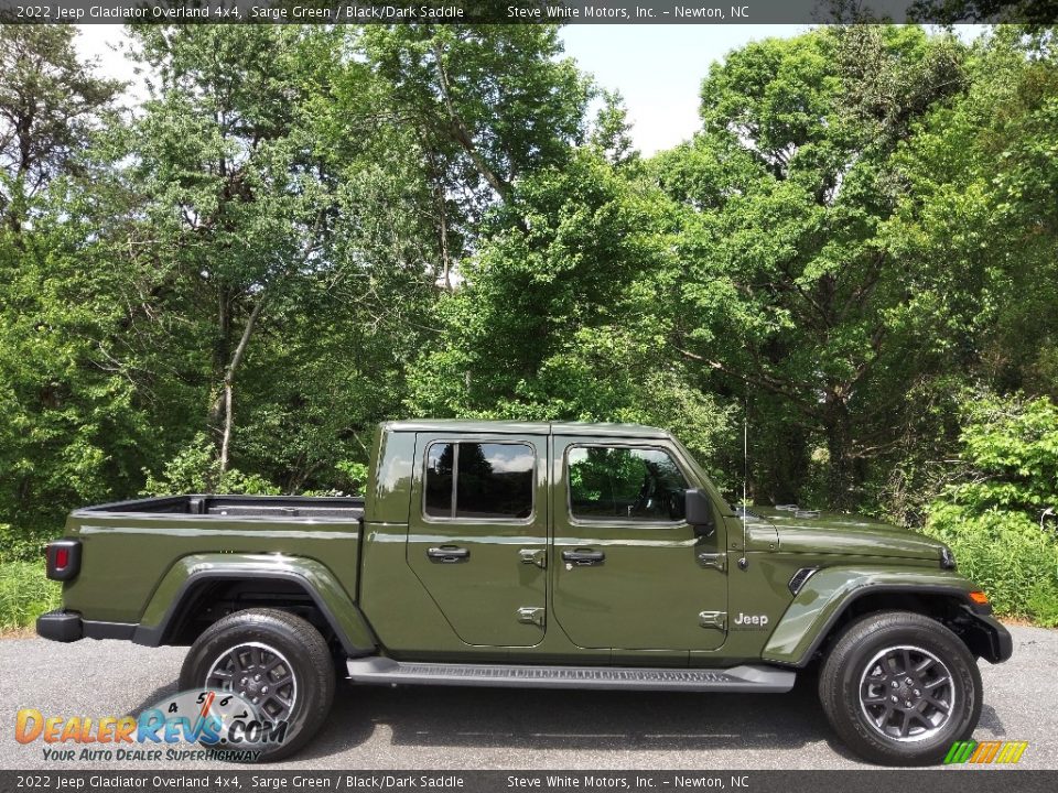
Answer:
M803 666L842 612L865 595L947 595L972 604L971 582L950 571L899 565L827 567L812 575L779 619L762 658Z

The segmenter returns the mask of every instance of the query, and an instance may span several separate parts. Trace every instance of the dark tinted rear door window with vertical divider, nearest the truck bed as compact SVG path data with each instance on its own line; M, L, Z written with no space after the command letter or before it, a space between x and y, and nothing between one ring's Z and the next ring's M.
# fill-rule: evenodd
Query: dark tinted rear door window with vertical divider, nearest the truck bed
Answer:
M433 444L427 454L423 512L431 518L529 518L535 466L527 444Z

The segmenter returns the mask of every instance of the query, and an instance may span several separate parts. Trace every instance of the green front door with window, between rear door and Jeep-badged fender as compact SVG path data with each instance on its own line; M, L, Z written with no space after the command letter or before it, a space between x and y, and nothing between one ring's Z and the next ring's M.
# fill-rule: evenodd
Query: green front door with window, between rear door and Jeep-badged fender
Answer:
M678 449L555 436L553 455L553 610L570 640L624 650L723 644L723 529L683 519L690 467Z

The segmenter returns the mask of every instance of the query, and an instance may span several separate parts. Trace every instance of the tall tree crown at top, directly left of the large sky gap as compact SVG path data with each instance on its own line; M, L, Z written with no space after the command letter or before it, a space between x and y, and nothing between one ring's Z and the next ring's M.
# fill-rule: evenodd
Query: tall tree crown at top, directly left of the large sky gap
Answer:
M591 85L555 25L367 25L357 50L424 159L451 289L484 213L583 140Z

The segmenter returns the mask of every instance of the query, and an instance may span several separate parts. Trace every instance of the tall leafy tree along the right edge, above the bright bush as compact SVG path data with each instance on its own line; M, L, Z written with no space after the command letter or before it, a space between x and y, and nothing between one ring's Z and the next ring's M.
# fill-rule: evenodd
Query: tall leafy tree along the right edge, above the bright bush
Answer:
M890 512L920 522L956 453L962 394L1058 397L1058 62L1047 34L998 28L967 63L968 89L899 152L907 186L882 229L907 262L893 313L929 362L919 421L884 476ZM976 399L973 397L971 399Z

